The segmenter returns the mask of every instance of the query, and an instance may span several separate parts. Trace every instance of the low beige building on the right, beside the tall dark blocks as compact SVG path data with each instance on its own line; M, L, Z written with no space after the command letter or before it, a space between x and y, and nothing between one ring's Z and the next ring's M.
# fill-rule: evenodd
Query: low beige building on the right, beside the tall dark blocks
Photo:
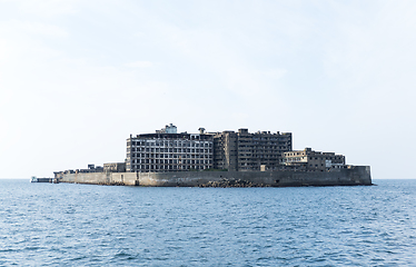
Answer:
M304 150L284 152L281 162L283 165L299 167L301 169L327 170L343 168L345 166L345 156L305 148Z

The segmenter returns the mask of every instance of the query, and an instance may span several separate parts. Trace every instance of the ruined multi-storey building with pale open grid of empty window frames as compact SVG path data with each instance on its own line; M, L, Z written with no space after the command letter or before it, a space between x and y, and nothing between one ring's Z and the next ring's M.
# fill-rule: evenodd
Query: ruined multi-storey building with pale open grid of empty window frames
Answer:
M206 170L214 166L214 137L200 134L177 134L169 125L156 134L130 135L127 139L126 171L167 172Z

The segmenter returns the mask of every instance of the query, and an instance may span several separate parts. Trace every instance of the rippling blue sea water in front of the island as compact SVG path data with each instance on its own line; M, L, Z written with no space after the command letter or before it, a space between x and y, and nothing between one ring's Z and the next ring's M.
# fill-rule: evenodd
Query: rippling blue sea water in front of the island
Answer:
M416 266L416 180L142 188L0 180L0 266Z

